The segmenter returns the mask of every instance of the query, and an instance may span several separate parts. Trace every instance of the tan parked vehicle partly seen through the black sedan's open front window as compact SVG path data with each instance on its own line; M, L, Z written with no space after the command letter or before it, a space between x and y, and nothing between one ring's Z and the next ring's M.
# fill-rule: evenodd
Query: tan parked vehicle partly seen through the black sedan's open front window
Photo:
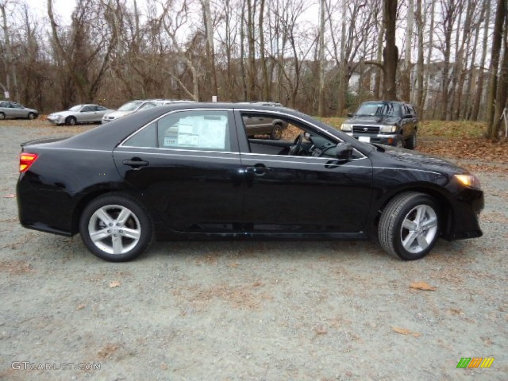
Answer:
M237 102L238 105L252 105L252 106L270 106L270 107L282 107L277 102ZM272 140L280 140L282 133L288 128L288 123L278 118L267 118L260 117L258 115L245 115L243 116L243 122L245 123L245 132L248 137L256 135L270 135Z

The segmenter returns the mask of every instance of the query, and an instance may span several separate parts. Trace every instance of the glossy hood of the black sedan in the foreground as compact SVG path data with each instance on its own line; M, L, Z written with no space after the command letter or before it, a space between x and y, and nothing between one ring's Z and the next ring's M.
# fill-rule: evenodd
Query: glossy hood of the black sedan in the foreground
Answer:
M405 166L411 166L417 169L435 170L447 173L468 173L456 164L444 160L443 158L429 155L427 153L417 152L404 148L393 146L379 145L384 149L384 155L390 157L395 162L402 162Z

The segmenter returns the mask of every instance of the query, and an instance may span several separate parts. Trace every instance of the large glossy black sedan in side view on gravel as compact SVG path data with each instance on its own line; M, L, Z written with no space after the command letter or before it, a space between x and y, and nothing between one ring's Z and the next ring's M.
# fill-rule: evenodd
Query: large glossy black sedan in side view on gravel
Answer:
M246 117L290 140L253 139ZM292 135L290 135L292 134ZM21 224L72 236L108 261L157 240L366 239L403 260L438 237L480 237L478 179L440 158L359 142L307 115L175 104L71 138L22 144Z

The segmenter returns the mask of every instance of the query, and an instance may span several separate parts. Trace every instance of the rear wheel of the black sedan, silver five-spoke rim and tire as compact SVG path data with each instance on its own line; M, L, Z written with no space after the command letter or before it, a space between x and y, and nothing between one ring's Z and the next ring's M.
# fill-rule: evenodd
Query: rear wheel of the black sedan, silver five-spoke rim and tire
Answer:
M124 213L124 220L118 219L122 218L121 213ZM109 262L126 262L139 257L148 247L152 224L148 213L136 201L109 194L94 199L85 207L79 232L93 255ZM97 237L95 241L91 234Z

